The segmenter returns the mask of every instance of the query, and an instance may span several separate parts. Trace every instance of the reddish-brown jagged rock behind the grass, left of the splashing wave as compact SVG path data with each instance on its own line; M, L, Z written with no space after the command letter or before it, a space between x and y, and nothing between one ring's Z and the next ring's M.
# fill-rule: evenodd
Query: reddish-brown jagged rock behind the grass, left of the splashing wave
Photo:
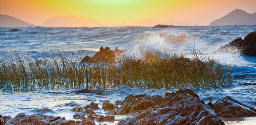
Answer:
M90 57L86 56L82 59L80 63L85 62L92 62L92 63L98 63L98 62L105 62L105 63L114 63L116 62L117 57L120 57L122 54L124 54L126 50L119 50L116 48L115 50L110 50L109 47L106 47L105 49L103 47L100 48L99 52L96 52L95 55L90 59Z

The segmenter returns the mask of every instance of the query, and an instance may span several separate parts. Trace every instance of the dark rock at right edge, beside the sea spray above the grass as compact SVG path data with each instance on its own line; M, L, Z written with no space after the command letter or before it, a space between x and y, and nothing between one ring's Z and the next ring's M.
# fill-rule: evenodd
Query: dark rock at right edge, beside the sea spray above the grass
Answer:
M227 45L221 46L220 50L229 51L230 47L239 49L243 55L256 56L256 31L247 34L244 40L237 38Z

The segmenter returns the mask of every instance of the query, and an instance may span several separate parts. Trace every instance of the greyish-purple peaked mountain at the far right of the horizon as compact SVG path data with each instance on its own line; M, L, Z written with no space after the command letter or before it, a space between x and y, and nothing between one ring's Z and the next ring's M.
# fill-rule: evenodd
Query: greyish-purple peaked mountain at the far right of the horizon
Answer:
M249 14L246 11L236 9L224 17L214 20L210 25L256 25L256 12L254 14Z

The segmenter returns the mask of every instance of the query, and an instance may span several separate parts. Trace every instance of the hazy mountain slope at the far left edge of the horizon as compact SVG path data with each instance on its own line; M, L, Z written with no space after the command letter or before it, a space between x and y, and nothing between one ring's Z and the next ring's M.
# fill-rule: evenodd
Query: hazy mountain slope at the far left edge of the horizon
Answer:
M0 27L27 27L35 26L12 16L0 14Z

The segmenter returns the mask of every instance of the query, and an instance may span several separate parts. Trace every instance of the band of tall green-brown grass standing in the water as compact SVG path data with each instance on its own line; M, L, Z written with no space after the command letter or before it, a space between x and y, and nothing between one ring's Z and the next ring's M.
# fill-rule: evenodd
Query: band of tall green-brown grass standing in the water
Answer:
M69 88L119 88L122 85L148 89L216 88L232 83L231 70L192 50L192 59L152 56L123 57L118 63L79 63L60 54L60 61L32 57L0 61L0 89L31 91Z

